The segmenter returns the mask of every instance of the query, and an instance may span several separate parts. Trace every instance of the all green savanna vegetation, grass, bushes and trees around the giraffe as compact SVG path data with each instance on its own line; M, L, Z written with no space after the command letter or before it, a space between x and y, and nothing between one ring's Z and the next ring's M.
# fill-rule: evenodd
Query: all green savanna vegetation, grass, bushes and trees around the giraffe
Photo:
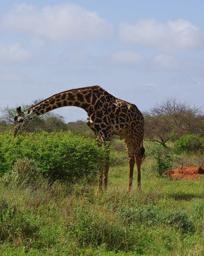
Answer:
M95 195L106 152L84 121L46 114L13 138L15 108L2 109L0 255L204 255L204 177L164 174L182 164L204 168L203 112L187 103L170 111L165 101L184 104L166 99L144 113L140 194L136 168L127 193L119 137L111 144L108 190Z

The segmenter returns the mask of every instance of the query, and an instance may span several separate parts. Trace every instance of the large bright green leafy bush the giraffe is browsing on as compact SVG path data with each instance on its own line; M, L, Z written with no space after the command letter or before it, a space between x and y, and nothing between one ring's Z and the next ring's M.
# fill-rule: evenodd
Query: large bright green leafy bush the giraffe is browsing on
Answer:
M13 138L11 132L0 134L0 175L11 171L19 159L35 161L35 168L51 182L67 179L92 180L104 161L104 147L96 142L67 133L31 133ZM27 162L26 162L27 163ZM22 167L21 167L22 168Z

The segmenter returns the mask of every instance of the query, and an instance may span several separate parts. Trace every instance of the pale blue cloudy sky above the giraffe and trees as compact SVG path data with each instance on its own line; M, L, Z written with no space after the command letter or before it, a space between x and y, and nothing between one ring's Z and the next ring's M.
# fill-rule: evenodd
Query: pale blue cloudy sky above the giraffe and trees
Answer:
M0 107L92 85L140 110L169 96L203 106L203 10L198 0L0 0Z

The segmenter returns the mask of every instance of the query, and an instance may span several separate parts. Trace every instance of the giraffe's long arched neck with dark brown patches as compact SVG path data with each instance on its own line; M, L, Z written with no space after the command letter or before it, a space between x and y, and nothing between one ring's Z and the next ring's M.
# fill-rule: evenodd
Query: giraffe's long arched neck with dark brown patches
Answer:
M99 86L92 87L95 87L95 91L93 91L93 88L90 87L90 89L73 89L55 94L50 98L42 100L39 103L27 108L26 110L32 108L33 116L40 116L56 108L76 106L83 108L88 113L92 108L93 101L96 100L96 90L100 88Z

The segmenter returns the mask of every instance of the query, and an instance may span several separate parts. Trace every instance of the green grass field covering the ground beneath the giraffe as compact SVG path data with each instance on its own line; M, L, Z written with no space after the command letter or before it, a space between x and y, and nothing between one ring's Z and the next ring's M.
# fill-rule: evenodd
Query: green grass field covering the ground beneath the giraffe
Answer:
M93 182L55 182L41 177L0 179L0 255L204 255L204 177L172 180L155 175L148 154L142 192L136 167L128 194L123 141L112 143L107 191Z

